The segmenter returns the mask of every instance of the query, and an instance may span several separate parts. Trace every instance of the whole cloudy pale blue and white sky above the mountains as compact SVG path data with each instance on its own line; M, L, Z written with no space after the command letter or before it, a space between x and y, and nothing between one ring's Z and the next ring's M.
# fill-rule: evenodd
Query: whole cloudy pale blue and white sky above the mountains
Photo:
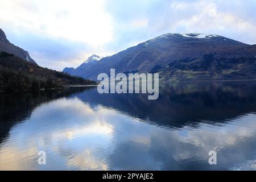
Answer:
M256 44L256 0L0 0L0 28L39 65L61 71L172 32Z

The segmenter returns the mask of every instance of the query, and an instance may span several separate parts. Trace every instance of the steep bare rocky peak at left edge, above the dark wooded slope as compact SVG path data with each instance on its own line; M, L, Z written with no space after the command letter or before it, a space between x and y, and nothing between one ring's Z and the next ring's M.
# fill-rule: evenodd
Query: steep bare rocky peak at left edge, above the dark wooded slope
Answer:
M30 57L27 51L24 51L22 48L19 48L18 46L15 46L14 44L9 42L9 40L6 38L5 32L3 32L1 28L0 28L0 52L11 53L20 57L23 60L36 64L36 62Z

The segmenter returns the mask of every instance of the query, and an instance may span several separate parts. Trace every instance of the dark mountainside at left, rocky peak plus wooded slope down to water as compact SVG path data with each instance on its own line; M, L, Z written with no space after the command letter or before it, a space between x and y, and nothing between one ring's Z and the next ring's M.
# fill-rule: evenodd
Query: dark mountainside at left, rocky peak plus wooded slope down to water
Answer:
M2 30L0 33L0 90L36 90L63 88L63 85L68 84L96 84L95 81L39 67L32 59L26 60L15 52L10 53L13 51L11 48L18 47L10 44ZM15 50L23 52L20 48Z

